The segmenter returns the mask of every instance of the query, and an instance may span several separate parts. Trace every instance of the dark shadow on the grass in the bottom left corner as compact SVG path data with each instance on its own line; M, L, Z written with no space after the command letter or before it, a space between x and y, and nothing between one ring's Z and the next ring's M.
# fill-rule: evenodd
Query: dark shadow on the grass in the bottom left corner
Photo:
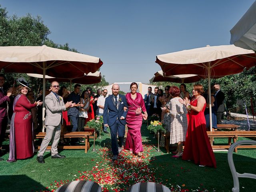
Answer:
M31 188L35 190L44 189L39 182L26 175L4 175L0 176L0 186L4 191L28 192Z

